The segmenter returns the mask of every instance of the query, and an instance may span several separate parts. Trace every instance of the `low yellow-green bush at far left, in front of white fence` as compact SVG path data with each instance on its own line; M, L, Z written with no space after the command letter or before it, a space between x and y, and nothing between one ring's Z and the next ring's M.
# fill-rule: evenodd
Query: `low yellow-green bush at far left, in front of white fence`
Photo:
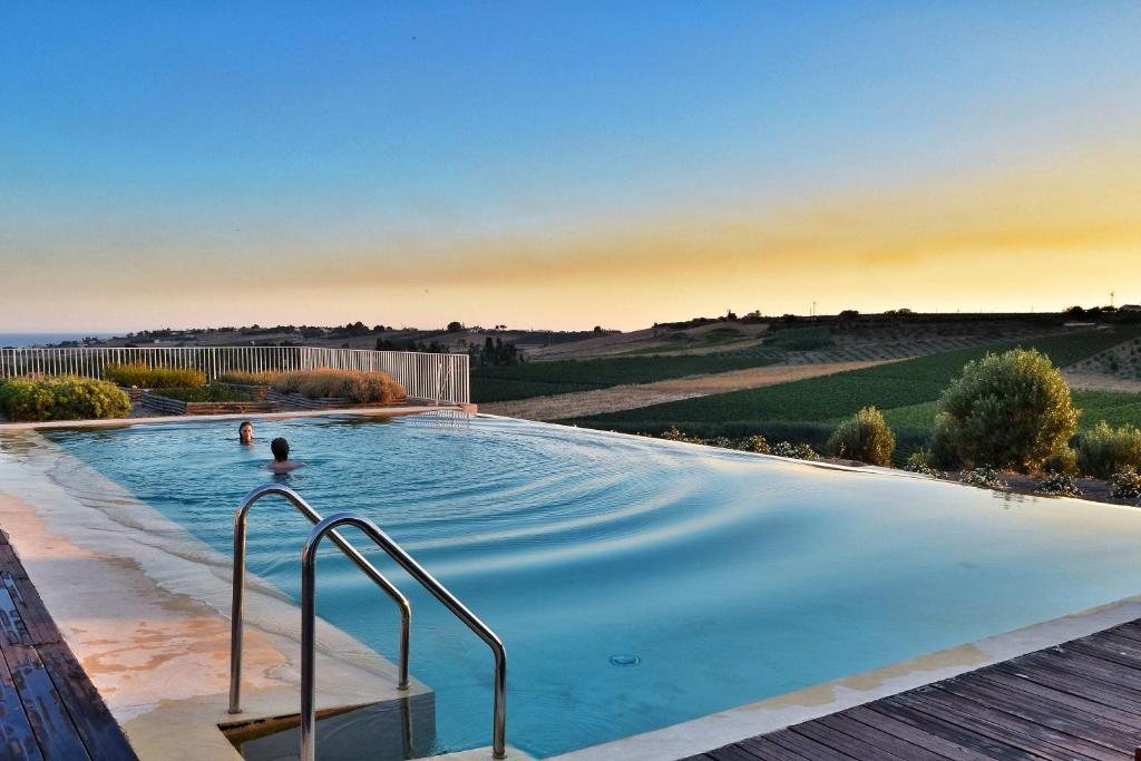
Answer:
M114 383L62 375L0 382L0 412L17 422L126 418L130 398Z

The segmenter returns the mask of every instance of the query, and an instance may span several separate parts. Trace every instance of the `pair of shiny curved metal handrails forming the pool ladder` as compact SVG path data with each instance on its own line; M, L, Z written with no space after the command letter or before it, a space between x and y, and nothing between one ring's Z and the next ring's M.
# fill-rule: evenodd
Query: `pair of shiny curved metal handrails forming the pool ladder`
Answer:
M404 548L367 518L351 512L338 512L329 518L322 518L301 495L277 484L266 484L246 494L234 515L234 582L230 607L230 648L229 648L229 712L241 713L242 707L242 631L245 598L245 524L246 516L253 503L264 496L284 497L305 516L313 529L305 541L301 551L301 759L315 761L316 745L314 728L317 721L316 712L316 581L317 581L317 547L327 534L341 552L371 578L400 610L400 654L397 689L408 689L408 635L412 629L412 606L408 599L385 576L377 570L356 548L337 533L339 526L353 526L359 529L373 543L382 549L410 576L415 578L445 608L463 622L479 639L484 640L495 656L495 704L492 721L492 754L496 759L507 756L507 650L500 638L482 622L471 610L440 584L423 566L405 552Z

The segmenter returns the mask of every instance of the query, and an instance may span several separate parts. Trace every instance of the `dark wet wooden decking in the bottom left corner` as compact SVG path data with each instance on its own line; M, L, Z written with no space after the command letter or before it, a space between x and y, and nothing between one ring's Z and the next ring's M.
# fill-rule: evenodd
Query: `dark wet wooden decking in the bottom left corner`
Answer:
M2 532L0 630L0 759L136 759Z

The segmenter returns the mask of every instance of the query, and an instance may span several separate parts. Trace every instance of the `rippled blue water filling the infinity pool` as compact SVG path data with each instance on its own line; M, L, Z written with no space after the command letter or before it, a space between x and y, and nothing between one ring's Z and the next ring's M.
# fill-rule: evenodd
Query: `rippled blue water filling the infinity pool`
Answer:
M1141 512L477 418L168 423L46 435L207 543L267 480L380 524L502 637L509 740L537 756L657 729L1141 589ZM250 568L296 599L305 521L254 508ZM351 536L350 536L351 539ZM373 557L381 569L393 568ZM406 577L439 750L486 745L486 646ZM331 550L318 610L395 659L397 616ZM319 679L318 674L318 679Z

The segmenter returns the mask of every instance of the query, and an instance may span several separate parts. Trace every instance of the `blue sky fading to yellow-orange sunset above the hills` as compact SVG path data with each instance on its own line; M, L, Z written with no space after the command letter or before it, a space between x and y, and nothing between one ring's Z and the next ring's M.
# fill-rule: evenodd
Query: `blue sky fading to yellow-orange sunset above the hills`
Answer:
M1141 302L1136 2L0 9L0 332Z

